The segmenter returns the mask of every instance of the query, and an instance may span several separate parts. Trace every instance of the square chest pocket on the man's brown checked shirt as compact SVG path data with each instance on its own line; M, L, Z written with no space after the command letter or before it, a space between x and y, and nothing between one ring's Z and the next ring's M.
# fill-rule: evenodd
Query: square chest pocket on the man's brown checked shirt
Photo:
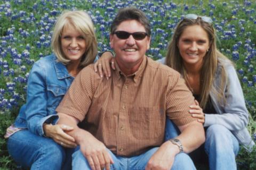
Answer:
M164 139L165 115L159 107L134 107L129 114L135 139Z

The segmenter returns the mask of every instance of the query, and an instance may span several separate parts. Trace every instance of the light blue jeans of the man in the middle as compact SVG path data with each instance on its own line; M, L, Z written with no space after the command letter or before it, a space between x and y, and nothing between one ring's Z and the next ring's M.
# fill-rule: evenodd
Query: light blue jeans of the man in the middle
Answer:
M110 150L108 152L111 155L111 158L114 160L114 164L110 166L110 169L115 170L122 170L122 169L132 169L132 170L140 170L145 169L148 160L151 156L157 151L158 147L152 148L145 153L142 153L138 156L133 157L121 157L116 156ZM73 161L72 161L72 169L91 169L89 163L87 162L86 158L84 157L81 150L76 151L73 154ZM174 158L174 163L172 168L173 170L192 170L196 169L193 161L186 153L179 153Z

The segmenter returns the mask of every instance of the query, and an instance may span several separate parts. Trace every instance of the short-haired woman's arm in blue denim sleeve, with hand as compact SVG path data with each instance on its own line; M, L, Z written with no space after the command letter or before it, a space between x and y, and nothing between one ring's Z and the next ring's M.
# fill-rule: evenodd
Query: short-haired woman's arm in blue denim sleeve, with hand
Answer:
M27 106L25 111L27 127L30 132L40 136L51 137L55 142L65 147L76 147L74 138L65 133L73 130L73 127L54 125L59 119L58 115L47 114L46 76L45 65L36 62L28 78Z

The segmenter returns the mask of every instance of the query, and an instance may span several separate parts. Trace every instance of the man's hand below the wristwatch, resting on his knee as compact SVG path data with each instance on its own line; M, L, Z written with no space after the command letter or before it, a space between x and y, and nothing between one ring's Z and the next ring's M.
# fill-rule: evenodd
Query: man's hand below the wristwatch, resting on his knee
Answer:
M166 141L149 159L146 170L170 170L178 153L178 146Z

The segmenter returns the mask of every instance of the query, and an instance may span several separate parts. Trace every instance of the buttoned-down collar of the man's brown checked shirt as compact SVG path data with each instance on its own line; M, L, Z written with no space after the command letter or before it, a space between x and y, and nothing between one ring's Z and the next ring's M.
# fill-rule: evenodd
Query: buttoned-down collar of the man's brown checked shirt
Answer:
M118 64L117 64L117 62L115 62L115 67L116 67L115 74L116 74L116 76L118 77L118 79L121 78L121 76L124 76L124 77L131 77L131 78L133 79L134 83L137 83L138 80L139 80L139 79L141 78L141 76L142 76L143 70L145 70L145 68L146 68L146 63L147 63L147 56L145 55L145 56L143 57L143 60L142 60L142 62L141 62L141 64L140 64L139 69L138 69L136 72L134 72L133 74L125 76L124 73L120 70L120 68L119 68L119 66L118 66Z

